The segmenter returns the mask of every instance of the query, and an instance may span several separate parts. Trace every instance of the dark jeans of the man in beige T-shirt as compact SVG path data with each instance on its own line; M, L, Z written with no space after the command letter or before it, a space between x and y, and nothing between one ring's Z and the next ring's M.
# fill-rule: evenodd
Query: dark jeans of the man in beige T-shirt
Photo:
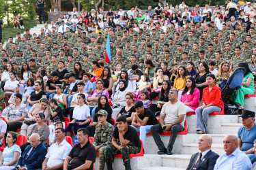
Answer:
M152 136L154 138L154 141L156 142L156 146L158 146L158 149L163 151L166 150L164 143L162 143L162 140L160 138L160 135L158 133L162 133L162 126L160 124L153 125L150 129ZM175 124L171 127L171 136L169 139L169 143L167 146L167 150L172 151L173 150L173 144L175 142L175 139L177 137L177 133L184 131L184 127L181 124Z

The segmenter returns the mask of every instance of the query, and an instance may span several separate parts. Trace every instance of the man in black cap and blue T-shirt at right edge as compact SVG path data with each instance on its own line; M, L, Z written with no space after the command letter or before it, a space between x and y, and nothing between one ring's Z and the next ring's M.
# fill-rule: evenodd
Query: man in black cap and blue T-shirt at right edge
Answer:
M244 110L242 125L238 130L238 146L250 159L255 157L253 141L256 139L255 112Z

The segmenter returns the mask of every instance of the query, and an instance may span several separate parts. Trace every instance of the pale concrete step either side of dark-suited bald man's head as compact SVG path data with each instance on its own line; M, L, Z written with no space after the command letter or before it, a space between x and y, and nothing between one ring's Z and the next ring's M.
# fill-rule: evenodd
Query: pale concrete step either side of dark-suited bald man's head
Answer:
M213 143L211 149L218 155L222 155L225 153L225 151L223 150L223 144L221 143ZM195 154L196 152L198 152L197 143L183 144L182 154Z

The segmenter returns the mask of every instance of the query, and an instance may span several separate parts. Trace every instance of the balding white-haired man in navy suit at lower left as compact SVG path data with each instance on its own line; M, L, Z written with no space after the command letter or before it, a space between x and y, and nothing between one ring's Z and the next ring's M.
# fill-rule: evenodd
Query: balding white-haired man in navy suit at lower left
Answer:
M18 159L18 170L42 169L42 163L47 153L47 149L40 141L40 135L33 133L29 137L30 145L25 148L23 155Z

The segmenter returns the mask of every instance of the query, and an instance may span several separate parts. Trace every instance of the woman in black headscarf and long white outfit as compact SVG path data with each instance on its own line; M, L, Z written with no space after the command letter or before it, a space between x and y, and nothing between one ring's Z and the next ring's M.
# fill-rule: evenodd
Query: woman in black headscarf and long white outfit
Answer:
M126 106L126 93L128 89L126 88L126 81L119 80L118 82L119 90L115 92L115 95L112 97L112 118L116 119L117 114L119 114L122 107Z

